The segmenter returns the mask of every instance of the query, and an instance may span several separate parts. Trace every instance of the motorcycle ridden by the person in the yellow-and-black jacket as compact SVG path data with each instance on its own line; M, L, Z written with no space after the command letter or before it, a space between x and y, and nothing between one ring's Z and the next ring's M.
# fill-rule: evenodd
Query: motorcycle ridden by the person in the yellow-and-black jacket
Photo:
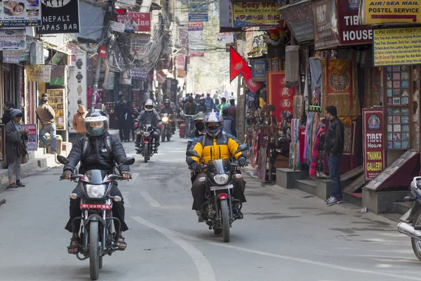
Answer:
M247 145L239 145L238 150L234 153L247 151ZM222 233L222 240L229 242L230 228L232 222L235 221L243 207L240 200L232 197L234 191L234 178L242 177L236 174L239 171L239 163L231 159L211 159L206 163L205 159L199 157L196 150L187 150L187 156L198 157L205 164L199 165L200 170L206 169L206 202L202 205L201 211L206 215L206 224L209 229L213 229L213 233L219 235ZM239 204L238 209L233 209L234 203ZM236 214L234 214L236 213Z

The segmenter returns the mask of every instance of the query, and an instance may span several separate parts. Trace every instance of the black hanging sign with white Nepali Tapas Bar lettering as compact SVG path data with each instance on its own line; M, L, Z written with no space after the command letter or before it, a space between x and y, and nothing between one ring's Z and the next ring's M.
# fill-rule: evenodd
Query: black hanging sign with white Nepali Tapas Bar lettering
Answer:
M79 33L78 0L42 1L42 26L36 34Z

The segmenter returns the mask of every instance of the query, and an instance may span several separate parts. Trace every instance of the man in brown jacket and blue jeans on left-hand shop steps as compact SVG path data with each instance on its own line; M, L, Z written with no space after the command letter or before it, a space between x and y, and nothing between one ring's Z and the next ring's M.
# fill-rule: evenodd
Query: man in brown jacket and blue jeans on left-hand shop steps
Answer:
M53 107L48 105L48 98L41 98L41 105L36 108L36 117L41 122L41 130L39 130L39 139L44 143L44 148L51 145L51 153L57 153L57 140L55 138L55 111ZM46 139L46 133L50 133L51 144Z

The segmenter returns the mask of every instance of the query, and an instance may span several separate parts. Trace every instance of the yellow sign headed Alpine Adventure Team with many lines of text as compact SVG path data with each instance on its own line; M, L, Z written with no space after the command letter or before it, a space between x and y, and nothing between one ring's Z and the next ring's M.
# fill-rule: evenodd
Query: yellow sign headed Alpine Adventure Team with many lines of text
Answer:
M375 66L421 63L421 28L373 30Z

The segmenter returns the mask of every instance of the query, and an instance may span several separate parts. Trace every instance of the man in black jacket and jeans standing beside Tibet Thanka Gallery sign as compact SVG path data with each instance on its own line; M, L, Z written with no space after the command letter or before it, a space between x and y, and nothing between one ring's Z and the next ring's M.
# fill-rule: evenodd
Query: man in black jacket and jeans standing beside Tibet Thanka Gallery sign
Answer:
M328 155L329 177L332 181L332 195L327 204L342 203L342 188L340 187L340 160L344 151L344 125L338 118L338 110L330 105L326 107L326 119L329 126L326 133L324 152Z

